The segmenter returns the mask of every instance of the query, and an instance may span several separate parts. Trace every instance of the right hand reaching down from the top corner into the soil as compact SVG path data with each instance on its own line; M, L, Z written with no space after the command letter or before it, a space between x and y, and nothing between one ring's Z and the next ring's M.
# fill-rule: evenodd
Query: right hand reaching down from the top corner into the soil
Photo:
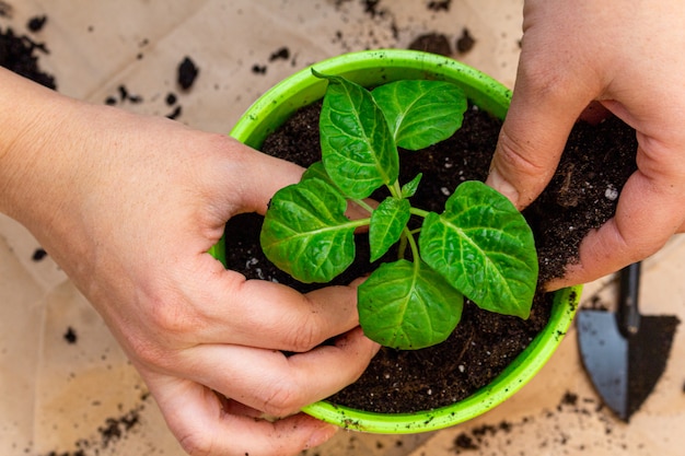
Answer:
M638 139L638 171L615 217L588 234L580 261L549 290L616 271L685 231L683 26L681 0L525 1L513 98L487 183L519 208L531 203L549 183L573 124L595 101Z

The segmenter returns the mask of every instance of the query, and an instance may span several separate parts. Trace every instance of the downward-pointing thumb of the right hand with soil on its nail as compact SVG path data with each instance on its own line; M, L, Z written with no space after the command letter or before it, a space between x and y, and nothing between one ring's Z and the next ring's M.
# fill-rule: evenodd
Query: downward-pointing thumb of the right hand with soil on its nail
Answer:
M554 62L529 54L522 50L511 105L487 178L488 185L519 209L549 183L573 124L599 93L583 81L581 71L569 66L561 72Z

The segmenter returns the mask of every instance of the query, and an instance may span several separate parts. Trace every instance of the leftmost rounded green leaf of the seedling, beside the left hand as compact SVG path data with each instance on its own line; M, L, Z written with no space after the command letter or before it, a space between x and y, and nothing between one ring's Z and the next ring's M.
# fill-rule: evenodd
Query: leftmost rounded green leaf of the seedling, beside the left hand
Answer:
M276 192L260 244L267 258L301 282L328 282L355 259L347 201L330 185L309 178Z

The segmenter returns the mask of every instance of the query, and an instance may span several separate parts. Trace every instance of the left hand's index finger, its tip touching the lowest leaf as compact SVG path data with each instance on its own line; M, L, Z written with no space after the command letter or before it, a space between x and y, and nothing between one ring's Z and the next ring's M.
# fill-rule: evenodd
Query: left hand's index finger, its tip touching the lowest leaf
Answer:
M230 340L247 347L303 352L359 324L356 283L301 294L283 284L245 280L234 271L218 273L222 280L204 281L205 289L197 284L197 290L186 292L204 304L196 309L200 316L186 318L195 329L187 332L194 341ZM234 303L230 311L227 301Z

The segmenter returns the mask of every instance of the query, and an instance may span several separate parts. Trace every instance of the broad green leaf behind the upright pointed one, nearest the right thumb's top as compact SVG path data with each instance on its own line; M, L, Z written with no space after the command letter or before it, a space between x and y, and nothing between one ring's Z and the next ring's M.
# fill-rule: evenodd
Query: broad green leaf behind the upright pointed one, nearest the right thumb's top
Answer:
M444 81L403 80L372 91L395 143L417 151L450 138L462 126L466 95Z

